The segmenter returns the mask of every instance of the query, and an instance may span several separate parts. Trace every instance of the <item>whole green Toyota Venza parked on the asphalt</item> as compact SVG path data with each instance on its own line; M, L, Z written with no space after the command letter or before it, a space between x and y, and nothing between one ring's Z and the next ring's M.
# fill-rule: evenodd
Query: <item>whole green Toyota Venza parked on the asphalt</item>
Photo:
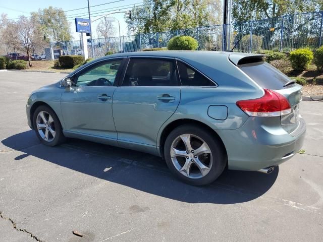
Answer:
M26 110L45 145L71 137L147 152L205 185L226 166L270 173L293 157L306 131L301 89L262 55L145 51L95 59L34 91Z

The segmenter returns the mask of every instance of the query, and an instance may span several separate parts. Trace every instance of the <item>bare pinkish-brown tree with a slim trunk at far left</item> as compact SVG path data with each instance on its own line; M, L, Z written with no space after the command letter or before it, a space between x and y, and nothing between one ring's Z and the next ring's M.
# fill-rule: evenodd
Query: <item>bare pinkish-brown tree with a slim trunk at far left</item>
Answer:
M29 66L31 66L30 54L32 50L42 49L45 46L39 30L39 25L33 19L25 16L20 16L17 22L9 22L5 30L5 34L10 36L7 39L8 43L27 53Z

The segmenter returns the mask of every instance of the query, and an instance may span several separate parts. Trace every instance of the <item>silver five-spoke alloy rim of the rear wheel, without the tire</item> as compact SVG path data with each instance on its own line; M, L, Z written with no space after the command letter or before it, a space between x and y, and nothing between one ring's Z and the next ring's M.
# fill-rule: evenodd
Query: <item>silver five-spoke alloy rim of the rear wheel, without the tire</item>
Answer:
M212 152L206 142L196 135L178 136L170 152L175 168L186 177L204 177L212 167Z

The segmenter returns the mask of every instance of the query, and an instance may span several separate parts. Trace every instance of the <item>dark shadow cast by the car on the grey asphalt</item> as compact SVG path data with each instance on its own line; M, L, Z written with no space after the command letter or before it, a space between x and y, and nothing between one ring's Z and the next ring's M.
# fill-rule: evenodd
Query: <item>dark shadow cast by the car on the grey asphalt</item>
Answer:
M214 183L193 187L177 180L161 158L142 152L69 139L66 144L47 147L34 131L13 135L3 145L100 179L109 180L146 193L187 203L234 204L256 199L275 183L279 169L271 174L225 170ZM50 171L48 171L50 172Z

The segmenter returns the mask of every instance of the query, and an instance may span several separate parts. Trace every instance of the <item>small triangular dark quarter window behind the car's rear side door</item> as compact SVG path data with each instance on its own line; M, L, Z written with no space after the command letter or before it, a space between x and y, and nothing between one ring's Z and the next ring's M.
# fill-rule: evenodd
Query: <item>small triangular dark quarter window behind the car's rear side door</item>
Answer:
M178 72L181 78L182 86L200 86L213 87L216 86L213 82L208 80L202 74L189 67L188 65L177 61Z

